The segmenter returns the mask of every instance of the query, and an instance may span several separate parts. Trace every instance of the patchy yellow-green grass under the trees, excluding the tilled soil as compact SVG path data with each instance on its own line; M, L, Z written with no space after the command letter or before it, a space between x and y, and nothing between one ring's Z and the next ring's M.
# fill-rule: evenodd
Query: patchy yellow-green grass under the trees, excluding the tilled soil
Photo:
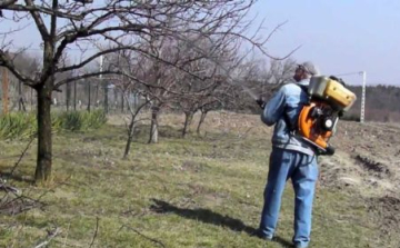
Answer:
M270 137L210 130L179 138L161 128L147 145L142 128L122 160L124 129L61 132L53 140L53 180L33 187L32 146L9 182L46 205L18 216L0 216L0 247L34 247L61 229L50 247L289 247L293 192L288 188L277 240L250 234L262 207ZM27 141L0 141L0 171L10 171ZM22 177L24 176L24 177ZM362 199L319 187L310 247L379 247L377 225Z

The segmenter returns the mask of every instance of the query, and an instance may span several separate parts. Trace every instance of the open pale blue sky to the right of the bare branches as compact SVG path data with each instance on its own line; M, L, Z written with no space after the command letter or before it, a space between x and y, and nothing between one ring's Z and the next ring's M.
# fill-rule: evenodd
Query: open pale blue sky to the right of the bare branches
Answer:
M272 37L271 53L302 46L292 58L323 73L364 70L368 85L400 86L400 0L259 0L256 13L268 30L288 21ZM359 75L343 79L362 82Z

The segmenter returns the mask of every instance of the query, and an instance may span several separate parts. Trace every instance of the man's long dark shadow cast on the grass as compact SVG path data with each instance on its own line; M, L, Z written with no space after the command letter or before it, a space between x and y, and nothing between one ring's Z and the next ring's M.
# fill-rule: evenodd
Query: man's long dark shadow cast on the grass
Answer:
M212 224L216 226L222 226L229 228L233 231L244 231L250 236L257 236L257 229L253 227L246 226L243 221L234 219L229 216L222 216L221 214L213 212L210 209L197 208L180 208L173 206L167 201L151 199L153 204L150 206L150 209L158 214L174 214L188 219L196 219L206 224ZM279 236L273 237L273 241L280 244L283 247L292 247L292 244Z

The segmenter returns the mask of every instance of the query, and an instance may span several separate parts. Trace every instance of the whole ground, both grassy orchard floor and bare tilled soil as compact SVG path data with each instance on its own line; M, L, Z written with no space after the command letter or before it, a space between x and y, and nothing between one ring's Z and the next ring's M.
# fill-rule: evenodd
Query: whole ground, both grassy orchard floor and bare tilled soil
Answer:
M258 116L213 112L200 136L180 138L164 115L160 142L139 127L128 159L123 117L53 140L53 179L33 186L36 145L0 141L0 247L290 247L288 183L272 242L254 232L272 129ZM192 126L192 130L196 127ZM337 153L320 157L310 247L400 247L400 126L341 121ZM6 197L8 196L8 197ZM13 212L12 212L13 211Z

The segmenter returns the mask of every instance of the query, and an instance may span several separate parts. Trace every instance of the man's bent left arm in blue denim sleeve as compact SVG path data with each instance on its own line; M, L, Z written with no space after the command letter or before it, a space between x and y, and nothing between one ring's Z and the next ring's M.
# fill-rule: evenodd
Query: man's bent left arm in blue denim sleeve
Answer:
M281 87L268 101L262 110L261 120L267 126L274 125L283 115L286 105L286 89Z

